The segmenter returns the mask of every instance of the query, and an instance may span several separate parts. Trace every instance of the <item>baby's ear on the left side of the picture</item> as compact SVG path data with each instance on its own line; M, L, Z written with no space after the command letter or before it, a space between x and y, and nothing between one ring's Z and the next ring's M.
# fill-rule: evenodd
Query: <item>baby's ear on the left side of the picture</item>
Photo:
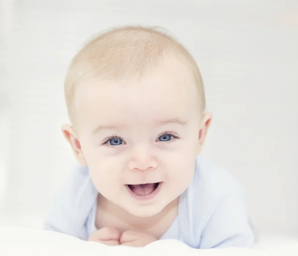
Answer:
M74 156L76 158L76 160L78 161L79 164L87 166L85 157L83 155L79 140L77 139L75 132L74 132L74 128L64 124L62 126L62 132L64 137L66 138L66 140L70 143L73 151L74 151Z

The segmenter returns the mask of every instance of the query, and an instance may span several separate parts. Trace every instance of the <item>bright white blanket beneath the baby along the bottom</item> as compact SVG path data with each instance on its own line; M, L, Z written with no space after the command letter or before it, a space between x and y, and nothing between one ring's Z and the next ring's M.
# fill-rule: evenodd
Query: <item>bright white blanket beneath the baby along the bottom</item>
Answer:
M298 256L298 239L261 239L254 249L196 250L174 240L156 241L144 249L108 247L38 229L0 227L0 256Z

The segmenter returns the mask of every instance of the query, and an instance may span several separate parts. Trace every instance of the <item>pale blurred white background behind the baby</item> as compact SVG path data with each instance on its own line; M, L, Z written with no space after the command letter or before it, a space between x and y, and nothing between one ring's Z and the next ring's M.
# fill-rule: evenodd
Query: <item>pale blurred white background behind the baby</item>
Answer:
M189 49L214 113L204 154L245 186L258 231L298 235L297 0L0 0L0 223L42 224L75 163L60 132L68 64L128 24Z

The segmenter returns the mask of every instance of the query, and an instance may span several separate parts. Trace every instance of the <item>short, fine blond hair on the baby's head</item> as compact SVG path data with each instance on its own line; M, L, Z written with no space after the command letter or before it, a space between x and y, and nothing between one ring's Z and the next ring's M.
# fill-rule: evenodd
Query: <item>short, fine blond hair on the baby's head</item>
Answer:
M74 117L74 97L79 84L90 77L119 79L142 75L153 68L165 53L179 58L191 69L198 85L199 107L205 110L205 92L198 65L173 37L156 27L128 26L109 30L89 41L71 62L64 92L70 120Z

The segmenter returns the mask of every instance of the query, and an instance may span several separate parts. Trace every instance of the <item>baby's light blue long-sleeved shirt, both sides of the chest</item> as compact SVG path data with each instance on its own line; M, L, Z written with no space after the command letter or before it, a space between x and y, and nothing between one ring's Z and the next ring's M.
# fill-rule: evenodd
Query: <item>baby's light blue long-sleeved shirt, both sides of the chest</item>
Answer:
M77 166L56 194L45 229L87 240L96 231L97 195L88 168ZM193 180L179 198L178 215L160 239L200 249L252 247L241 186L222 168L197 157Z

